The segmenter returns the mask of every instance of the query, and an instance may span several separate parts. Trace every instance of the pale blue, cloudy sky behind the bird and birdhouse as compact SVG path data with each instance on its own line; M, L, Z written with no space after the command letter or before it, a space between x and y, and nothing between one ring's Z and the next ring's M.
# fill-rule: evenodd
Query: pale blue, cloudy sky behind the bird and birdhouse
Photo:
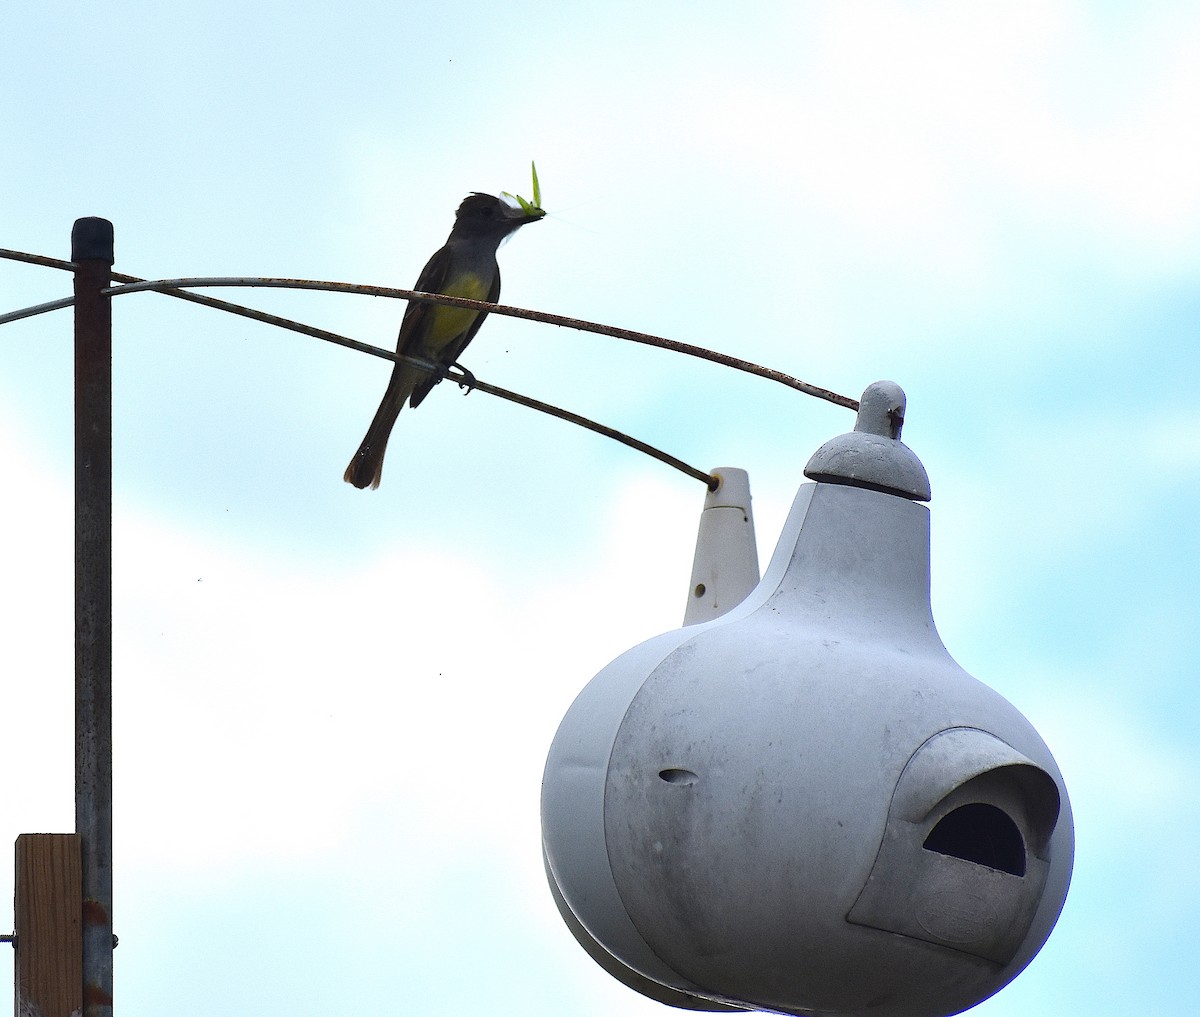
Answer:
M1200 8L1112 2L6 7L0 247L409 287L470 191L545 221L503 301L908 398L950 654L1075 812L982 1017L1183 1013L1200 877ZM68 295L0 261L0 312ZM222 291L390 347L391 300ZM539 788L683 616L703 487L484 393L114 300L115 1012L665 1012L576 945ZM71 312L0 327L0 842L73 828ZM760 559L848 410L493 315L484 381L748 470ZM0 860L0 898L11 896ZM0 925L6 922L0 917ZM6 955L6 951L5 951ZM0 957L11 977L11 959Z

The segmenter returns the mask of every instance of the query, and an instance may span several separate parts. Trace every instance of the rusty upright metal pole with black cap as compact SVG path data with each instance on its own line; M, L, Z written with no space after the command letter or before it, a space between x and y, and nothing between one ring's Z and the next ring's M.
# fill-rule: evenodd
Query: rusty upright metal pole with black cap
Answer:
M113 1012L113 224L71 230L76 295L76 830L83 1017Z

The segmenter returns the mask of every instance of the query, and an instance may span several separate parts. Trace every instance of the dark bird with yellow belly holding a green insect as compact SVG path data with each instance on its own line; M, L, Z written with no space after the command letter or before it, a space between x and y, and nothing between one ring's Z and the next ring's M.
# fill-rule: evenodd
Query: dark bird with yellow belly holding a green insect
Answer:
M528 201L512 205L479 191L468 194L458 205L450 236L430 258L413 289L494 303L500 295L500 266L496 261L500 242L526 223L536 222L545 215ZM458 363L458 357L475 338L486 317L486 311L409 301L400 325L396 353L443 367L458 367L473 380L470 372ZM379 409L346 468L343 479L347 483L360 489L379 487L388 438L401 409L406 402L413 409L419 407L443 377L396 362Z

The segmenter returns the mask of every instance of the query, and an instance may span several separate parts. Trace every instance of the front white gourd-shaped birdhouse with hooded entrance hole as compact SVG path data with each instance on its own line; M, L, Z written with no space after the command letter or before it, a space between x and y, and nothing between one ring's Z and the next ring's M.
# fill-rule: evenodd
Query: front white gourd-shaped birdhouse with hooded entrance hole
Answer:
M552 892L653 999L942 1017L1015 977L1062 909L1062 775L938 638L902 415L870 386L749 596L623 654L553 740Z

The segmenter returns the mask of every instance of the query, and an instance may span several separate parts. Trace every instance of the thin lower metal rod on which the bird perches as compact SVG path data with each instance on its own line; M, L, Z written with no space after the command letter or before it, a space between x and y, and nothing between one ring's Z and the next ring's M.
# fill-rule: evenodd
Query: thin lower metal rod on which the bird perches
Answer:
M6 252L2 248L0 248L0 257L4 257L8 253L10 252ZM19 252L12 252L12 253L19 253ZM61 267L68 271L74 269L74 265L71 261L55 261L55 259L41 258L40 255L23 255L22 258L16 258L13 260L25 260L35 258L37 260L32 261L32 264L43 264L47 267L53 267L53 269ZM138 284L145 282L144 279L139 279L136 276L126 276L124 273L118 273L118 272L113 272L113 278L122 282L127 281L131 284ZM139 287L139 289L156 289L156 288ZM120 291L130 293L131 290L128 287L121 287ZM203 296L200 294L186 293L184 290L164 289L160 291L163 291L169 296L178 296L182 300L191 300L194 303L202 303L206 307L212 307L218 311L228 311L233 314L239 314L244 318L251 318L257 321L263 321L268 325L277 325L281 329L287 329L289 331L299 332L305 336L312 336L313 338L325 339L326 342L336 343L337 345L343 345L349 349L358 350L360 353L368 353L372 354L373 356L380 357L382 360L403 361L406 363L413 365L414 367L421 371L427 371L431 374L446 377L450 380L456 381L461 385L470 384L466 374L458 374L457 372L448 371L442 365L431 363L430 361L420 360L419 357L404 356L402 354L392 353L391 350L380 349L379 347L373 347L367 343L359 342L358 339L352 339L346 336L340 336L336 332L328 332L324 329L316 329L312 325L305 325L301 321L293 321L290 318L280 318L276 314L268 314L266 312L257 311L253 307L242 307L239 303L229 303L226 300L218 300L211 296ZM64 301L55 301L54 307L52 307L50 305L40 305L40 307L44 311L52 311L56 309L58 306L67 307L73 302L74 302L73 297L67 297ZM30 313L38 313L35 308L25 308L25 311ZM22 315L22 317L28 317L28 315ZM0 324L2 324L2 319L0 319ZM706 487L708 487L709 491L715 491L718 485L720 483L720 481L712 474L706 474L703 470L698 470L695 467L689 465L688 463L676 458L671 453L664 452L661 449L656 449L653 445L647 445L644 441L641 441L637 438L634 438L612 427L608 427L607 425L599 423L598 421L590 420L586 416L581 416L580 414L560 409L559 407L551 405L550 403L544 403L540 399L534 399L529 396L522 396L520 392L512 392L509 391L508 389L500 389L496 385L488 385L487 383L480 381L478 379L474 379L474 384L472 385L472 387L479 389L481 392L487 392L488 395L496 396L500 399L508 399L511 403L517 403L529 409L538 410L539 413L547 414L548 416L557 416L560 420L565 420L570 423L578 425L580 427L587 428L588 431L594 431L596 434L602 434L606 438L612 438L614 441L619 441L623 445L628 445L630 449L636 449L640 452L644 452L647 456L650 456L658 459L659 462L665 463L668 467L674 467L680 473L684 473L688 476L701 481Z

